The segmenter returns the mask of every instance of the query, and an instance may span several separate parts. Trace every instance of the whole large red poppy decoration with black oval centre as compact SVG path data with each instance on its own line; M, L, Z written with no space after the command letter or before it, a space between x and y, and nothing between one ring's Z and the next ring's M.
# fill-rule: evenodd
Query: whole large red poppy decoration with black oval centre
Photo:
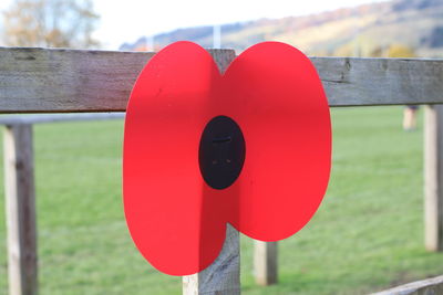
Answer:
M222 250L226 223L277 241L311 219L331 166L329 107L297 49L254 45L222 75L190 42L144 67L124 130L124 210L143 256L188 275Z

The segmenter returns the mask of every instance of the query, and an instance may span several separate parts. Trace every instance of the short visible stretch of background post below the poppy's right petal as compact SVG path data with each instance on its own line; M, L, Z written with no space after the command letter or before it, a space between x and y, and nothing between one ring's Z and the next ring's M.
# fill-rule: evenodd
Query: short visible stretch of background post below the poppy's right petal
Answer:
M277 242L254 241L254 274L261 286L277 284L278 244Z

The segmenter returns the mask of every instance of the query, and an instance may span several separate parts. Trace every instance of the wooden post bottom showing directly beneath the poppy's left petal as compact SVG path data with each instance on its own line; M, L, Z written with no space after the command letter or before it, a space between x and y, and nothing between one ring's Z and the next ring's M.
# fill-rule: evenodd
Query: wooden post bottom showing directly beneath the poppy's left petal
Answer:
M183 277L184 295L240 294L239 234L227 224L226 240L218 257L204 271Z

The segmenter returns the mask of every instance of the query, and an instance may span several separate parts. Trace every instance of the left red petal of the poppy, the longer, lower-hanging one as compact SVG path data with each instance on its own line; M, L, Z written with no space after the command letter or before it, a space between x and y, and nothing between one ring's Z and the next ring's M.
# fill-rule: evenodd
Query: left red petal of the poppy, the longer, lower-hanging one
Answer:
M135 83L124 131L124 210L131 235L159 271L196 273L218 255L226 219L198 167L207 106L220 75L190 42L157 53Z

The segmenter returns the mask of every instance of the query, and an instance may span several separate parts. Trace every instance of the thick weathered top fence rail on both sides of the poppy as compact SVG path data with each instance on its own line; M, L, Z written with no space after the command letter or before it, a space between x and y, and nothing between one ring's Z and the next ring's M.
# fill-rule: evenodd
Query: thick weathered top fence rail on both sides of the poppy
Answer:
M209 50L213 56L225 51ZM152 56L0 48L0 113L123 112L135 78ZM443 60L312 57L312 62L331 106L443 103Z

